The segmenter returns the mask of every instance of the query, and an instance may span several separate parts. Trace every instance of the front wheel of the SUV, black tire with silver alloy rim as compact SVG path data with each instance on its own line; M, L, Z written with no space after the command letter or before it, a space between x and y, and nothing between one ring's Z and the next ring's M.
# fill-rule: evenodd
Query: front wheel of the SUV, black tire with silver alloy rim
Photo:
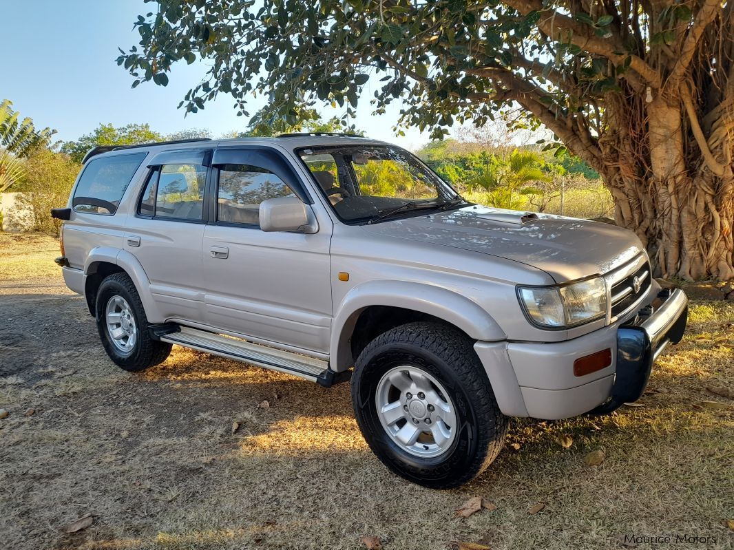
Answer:
M416 389L424 391L413 395ZM448 489L472 480L497 457L507 433L507 417L497 406L473 341L437 323L408 323L370 342L357 358L352 401L357 424L377 458L424 487ZM378 406L388 412L380 414ZM399 413L404 418L390 425ZM432 416L413 418L421 414ZM407 434L415 428L430 432L421 431L410 444L413 437Z

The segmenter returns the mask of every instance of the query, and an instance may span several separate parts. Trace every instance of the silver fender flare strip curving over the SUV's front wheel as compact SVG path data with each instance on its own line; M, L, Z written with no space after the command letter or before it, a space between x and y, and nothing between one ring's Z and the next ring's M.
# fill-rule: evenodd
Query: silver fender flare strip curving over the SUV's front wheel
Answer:
M349 290L333 320L330 365L337 372L354 366L350 340L357 319L370 306L412 309L433 315L473 340L506 340L506 334L479 304L444 287L407 281L370 281Z

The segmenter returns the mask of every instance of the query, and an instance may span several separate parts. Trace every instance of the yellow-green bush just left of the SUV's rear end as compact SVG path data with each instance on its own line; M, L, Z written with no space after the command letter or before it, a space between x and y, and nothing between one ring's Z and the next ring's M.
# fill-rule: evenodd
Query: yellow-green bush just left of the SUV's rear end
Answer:
M13 217L26 230L56 235L62 222L51 218L51 208L66 205L81 166L68 155L44 149L32 153L24 169L26 174L17 186L23 192L16 199Z

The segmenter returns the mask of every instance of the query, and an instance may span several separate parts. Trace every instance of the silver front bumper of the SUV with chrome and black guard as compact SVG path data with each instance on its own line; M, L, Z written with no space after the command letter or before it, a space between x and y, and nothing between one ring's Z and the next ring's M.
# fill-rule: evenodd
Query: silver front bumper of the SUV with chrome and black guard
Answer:
M564 342L477 342L501 411L513 417L561 419L604 414L637 400L653 361L686 329L688 299L664 290L625 323L614 323ZM611 351L608 366L577 376L576 359Z

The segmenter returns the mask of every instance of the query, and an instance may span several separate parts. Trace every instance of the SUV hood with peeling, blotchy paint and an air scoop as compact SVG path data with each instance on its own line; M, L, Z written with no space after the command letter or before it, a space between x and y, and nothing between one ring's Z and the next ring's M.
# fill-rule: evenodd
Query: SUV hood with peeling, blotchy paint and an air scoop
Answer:
M558 283L606 274L642 252L633 232L611 224L479 205L363 227L532 265Z

